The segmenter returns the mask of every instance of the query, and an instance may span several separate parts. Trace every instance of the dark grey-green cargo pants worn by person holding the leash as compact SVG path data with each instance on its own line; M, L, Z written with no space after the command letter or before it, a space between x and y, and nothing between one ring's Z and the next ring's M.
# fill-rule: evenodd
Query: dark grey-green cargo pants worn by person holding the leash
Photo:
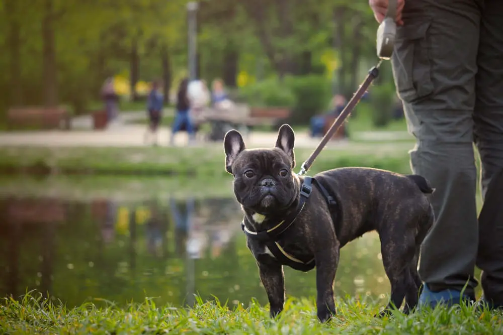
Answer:
M473 297L477 265L485 298L501 304L503 221L478 222L473 143L485 196L503 168L503 1L405 0L403 21L393 77L416 138L412 170L436 188L437 221L422 245L421 279L431 291L467 284Z

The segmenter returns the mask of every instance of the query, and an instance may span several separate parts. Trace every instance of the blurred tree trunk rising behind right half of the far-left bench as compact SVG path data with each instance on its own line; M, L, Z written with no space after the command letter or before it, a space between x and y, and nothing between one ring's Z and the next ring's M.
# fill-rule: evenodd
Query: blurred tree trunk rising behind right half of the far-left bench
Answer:
M44 0L44 17L42 19L42 58L44 104L47 107L55 107L58 104L54 16L53 0Z

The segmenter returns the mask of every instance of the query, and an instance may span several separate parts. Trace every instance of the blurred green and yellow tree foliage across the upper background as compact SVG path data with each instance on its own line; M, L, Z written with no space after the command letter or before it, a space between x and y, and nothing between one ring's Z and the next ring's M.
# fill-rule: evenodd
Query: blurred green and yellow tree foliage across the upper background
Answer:
M162 79L166 93L187 72L186 0L3 0L0 109L99 99L106 77ZM375 57L366 2L200 0L198 74L239 78L318 74L349 94Z

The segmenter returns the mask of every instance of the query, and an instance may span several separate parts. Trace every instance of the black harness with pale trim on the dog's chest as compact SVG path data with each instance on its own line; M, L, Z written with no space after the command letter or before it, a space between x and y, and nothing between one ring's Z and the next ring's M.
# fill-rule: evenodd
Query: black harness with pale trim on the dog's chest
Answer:
M279 240L281 234L286 232L288 228L292 227L292 225L295 222L295 219L299 216L302 209L304 209L306 201L311 195L313 185L317 186L317 188L323 194L326 202L328 203L329 208L337 204L336 200L328 193L328 191L326 190L325 187L323 187L323 185L321 185L313 177L306 176L304 177L304 182L300 186L300 199L299 204L297 205L297 209L290 215L288 215L287 218L279 222L278 225L268 230L252 232L249 229L247 229L244 225L244 220L246 219L246 217L241 222L241 229L243 230L244 234L246 234L246 236L248 236L251 239L255 239L257 241L265 243L266 246L271 251L271 253L274 255L274 257L276 257L276 259L279 262L281 262L281 264L288 265L289 267L295 270L303 272L307 272L314 268L315 266L314 258L310 260L297 259L292 255L289 255L285 250L283 250L283 248L279 245L277 241Z

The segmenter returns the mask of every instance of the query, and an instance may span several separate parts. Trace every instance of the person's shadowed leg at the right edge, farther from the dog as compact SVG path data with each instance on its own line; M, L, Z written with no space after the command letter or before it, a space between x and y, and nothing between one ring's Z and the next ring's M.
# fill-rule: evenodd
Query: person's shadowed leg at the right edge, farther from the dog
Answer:
M500 193L503 189L495 178L503 169L503 2L500 0L484 2L477 61L473 120L485 198L479 217L477 266L483 271L485 300L503 306L503 194ZM488 191L488 185L494 182L497 184Z

